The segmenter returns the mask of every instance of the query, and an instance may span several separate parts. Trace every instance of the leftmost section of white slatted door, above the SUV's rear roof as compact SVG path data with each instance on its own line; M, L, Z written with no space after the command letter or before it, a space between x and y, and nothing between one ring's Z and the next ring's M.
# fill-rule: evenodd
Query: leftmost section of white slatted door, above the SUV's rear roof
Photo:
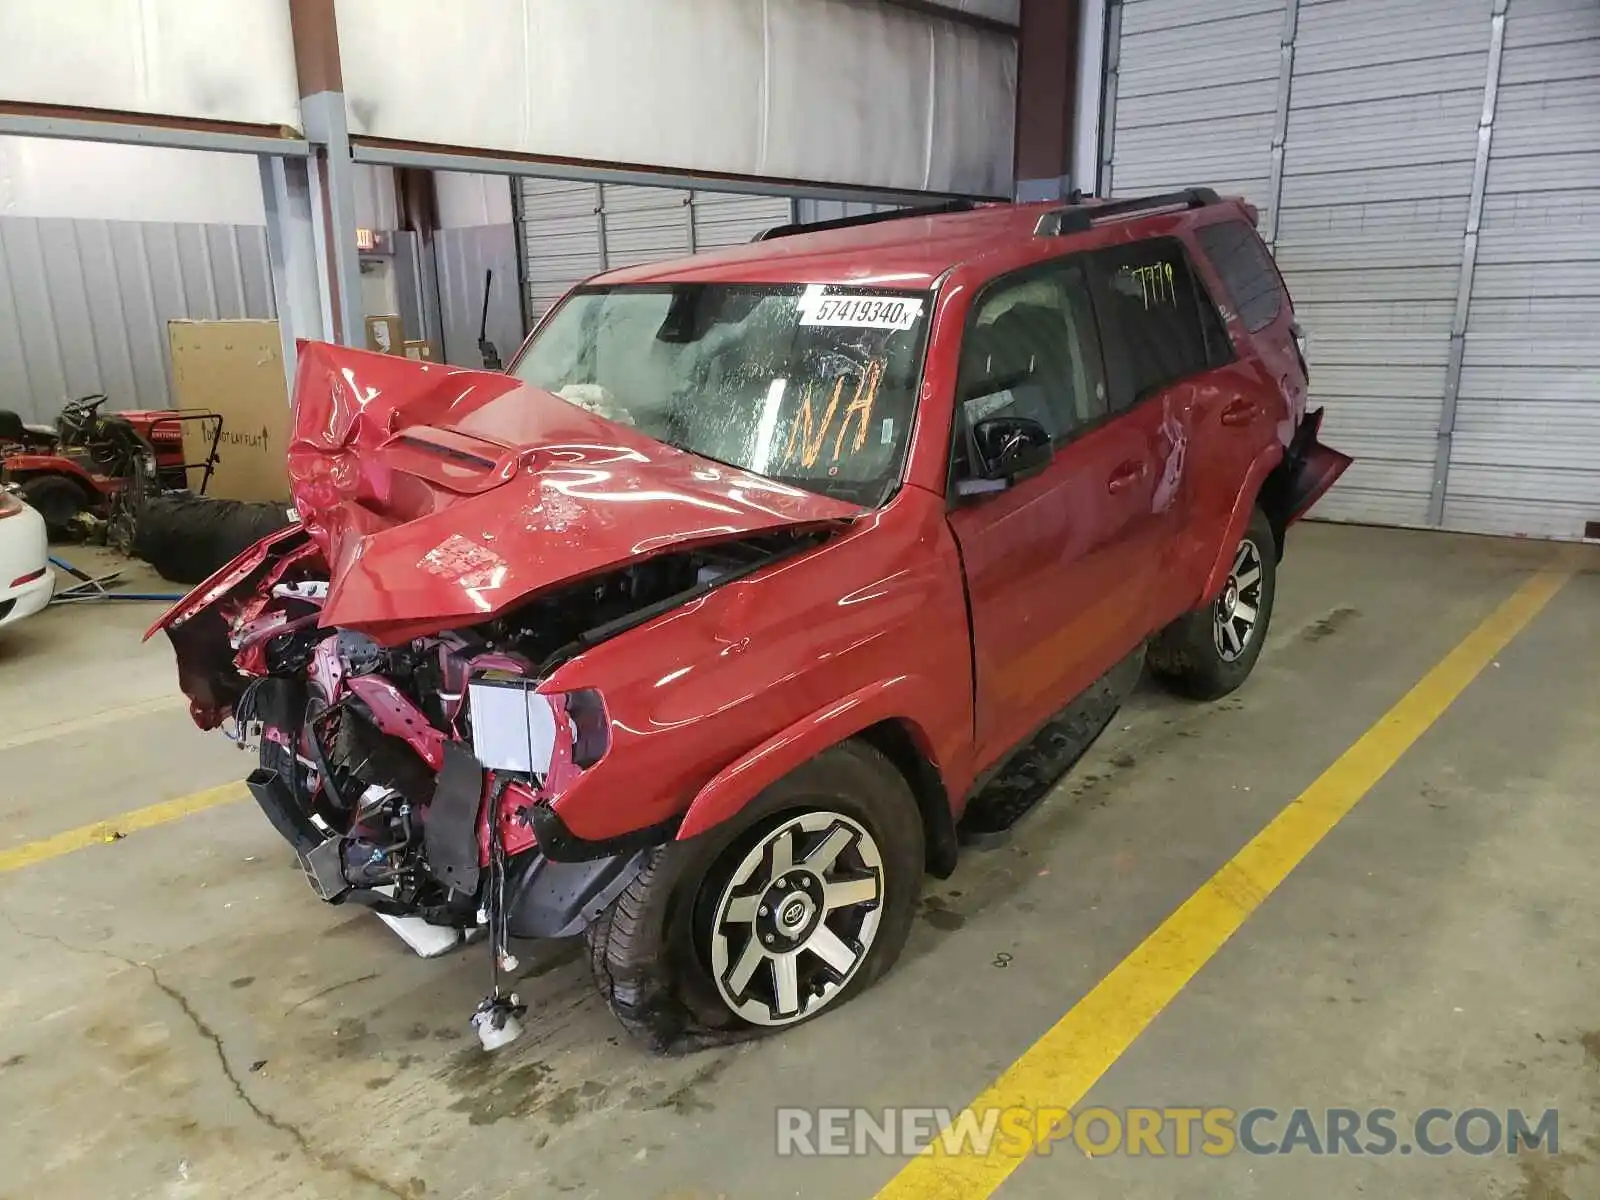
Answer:
M1272 170L1283 0L1126 0L1099 190L1208 184L1258 205Z

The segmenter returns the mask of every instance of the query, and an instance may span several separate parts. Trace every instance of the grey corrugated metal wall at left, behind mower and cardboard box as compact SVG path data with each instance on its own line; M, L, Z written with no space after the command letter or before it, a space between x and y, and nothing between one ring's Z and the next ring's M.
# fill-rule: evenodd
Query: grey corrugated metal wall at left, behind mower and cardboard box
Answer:
M259 226L0 216L0 408L171 403L166 322L274 317Z

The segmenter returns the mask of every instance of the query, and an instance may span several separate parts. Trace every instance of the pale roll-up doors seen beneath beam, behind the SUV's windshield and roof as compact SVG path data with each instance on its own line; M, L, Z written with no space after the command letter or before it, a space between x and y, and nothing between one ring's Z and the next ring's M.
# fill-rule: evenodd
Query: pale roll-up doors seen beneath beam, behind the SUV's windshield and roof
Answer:
M786 197L523 179L517 224L528 318L602 270L749 242L792 219Z

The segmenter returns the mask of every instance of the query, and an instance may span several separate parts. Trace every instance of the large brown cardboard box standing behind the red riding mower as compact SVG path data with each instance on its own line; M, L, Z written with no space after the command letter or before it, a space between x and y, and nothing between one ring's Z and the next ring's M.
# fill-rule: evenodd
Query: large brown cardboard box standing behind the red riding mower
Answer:
M278 323L171 320L166 338L173 349L173 405L222 414L219 459L206 494L288 501L290 389ZM202 424L184 426L190 462L205 459ZM190 483L200 485L200 472L190 472Z

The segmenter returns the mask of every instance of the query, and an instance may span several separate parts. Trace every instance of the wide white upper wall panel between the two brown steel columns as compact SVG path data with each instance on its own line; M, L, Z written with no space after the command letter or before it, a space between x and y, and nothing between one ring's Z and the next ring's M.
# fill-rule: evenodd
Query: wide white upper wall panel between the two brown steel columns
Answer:
M1008 195L1016 38L838 0L336 0L350 131Z

